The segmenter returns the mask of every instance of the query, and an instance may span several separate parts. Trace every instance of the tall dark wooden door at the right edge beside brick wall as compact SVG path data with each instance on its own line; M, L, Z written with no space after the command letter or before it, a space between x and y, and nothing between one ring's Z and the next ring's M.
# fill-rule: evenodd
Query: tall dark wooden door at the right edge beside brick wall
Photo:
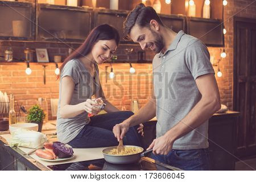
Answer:
M256 19L234 18L234 110L237 155L256 155Z

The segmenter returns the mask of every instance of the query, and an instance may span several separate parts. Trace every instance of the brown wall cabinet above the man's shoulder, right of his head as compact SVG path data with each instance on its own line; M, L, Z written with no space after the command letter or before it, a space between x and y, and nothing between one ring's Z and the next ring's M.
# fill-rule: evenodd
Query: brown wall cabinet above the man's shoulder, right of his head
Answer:
M210 47L224 47L223 23L220 19L187 18L187 34Z

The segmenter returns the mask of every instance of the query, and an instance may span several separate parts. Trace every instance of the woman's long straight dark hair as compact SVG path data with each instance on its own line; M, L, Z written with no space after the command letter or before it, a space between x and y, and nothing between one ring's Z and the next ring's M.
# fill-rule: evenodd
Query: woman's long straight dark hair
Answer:
M85 39L84 43L82 43L82 45L79 48L77 48L74 52L72 52L71 55L69 55L64 60L63 64L61 64L60 74L65 64L68 63L68 61L88 55L88 53L92 51L94 44L97 43L98 40L115 40L115 43L118 46L119 39L120 38L119 38L118 31L114 27L110 26L109 24L101 24L93 28L93 30L90 32L88 37ZM57 78L59 78L59 75L57 76Z

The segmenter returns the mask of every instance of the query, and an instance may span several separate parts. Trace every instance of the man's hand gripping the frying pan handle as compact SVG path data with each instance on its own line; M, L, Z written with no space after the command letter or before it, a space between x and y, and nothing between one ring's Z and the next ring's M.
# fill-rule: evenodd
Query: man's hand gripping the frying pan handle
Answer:
M162 137L154 139L147 150L153 148L153 154L167 155L172 150L173 144L174 142L170 141L166 135L163 135Z

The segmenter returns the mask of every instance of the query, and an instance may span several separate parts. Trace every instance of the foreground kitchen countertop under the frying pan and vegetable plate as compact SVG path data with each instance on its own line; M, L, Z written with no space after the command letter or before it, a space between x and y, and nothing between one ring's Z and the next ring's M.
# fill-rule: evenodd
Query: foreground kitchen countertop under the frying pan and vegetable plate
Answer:
M54 133L55 130L47 131L46 133ZM45 133L45 132L44 132ZM7 140L10 139L10 135L0 136L0 145L8 151L9 154L15 156L16 160L22 162L25 166L32 170L171 170L171 166L166 167L155 164L153 159L143 157L138 163L117 165L110 164L104 160L102 150L104 148L73 148L75 158L64 160L63 162L46 162L41 160L35 154L24 155L24 152L29 152L31 148L24 147L10 147L7 146ZM92 160L93 159L93 160Z

